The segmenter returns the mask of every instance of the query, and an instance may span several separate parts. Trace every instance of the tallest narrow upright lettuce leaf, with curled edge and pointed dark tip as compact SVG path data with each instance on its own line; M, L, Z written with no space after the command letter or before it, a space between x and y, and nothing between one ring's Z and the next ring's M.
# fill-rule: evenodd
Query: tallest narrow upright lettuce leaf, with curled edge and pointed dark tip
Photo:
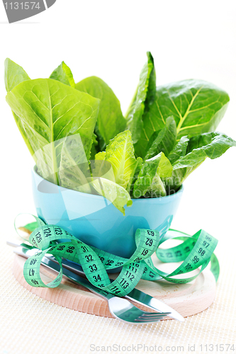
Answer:
M150 103L154 101L155 91L156 73L154 69L154 60L151 53L147 52L147 63L142 68L137 91L130 103L128 112L125 115L125 118L127 119L127 127L132 133L134 144L140 139L143 125L142 115Z

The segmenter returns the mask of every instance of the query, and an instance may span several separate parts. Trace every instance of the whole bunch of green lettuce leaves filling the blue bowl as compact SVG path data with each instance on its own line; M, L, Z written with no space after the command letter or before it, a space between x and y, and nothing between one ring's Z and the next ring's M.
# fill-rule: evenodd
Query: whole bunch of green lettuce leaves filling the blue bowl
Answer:
M131 197L175 193L207 157L236 147L214 132L227 93L193 79L156 88L150 52L125 118L104 81L91 76L75 85L64 62L50 79L31 80L6 59L4 78L6 101L38 173L64 188L103 195L123 215Z

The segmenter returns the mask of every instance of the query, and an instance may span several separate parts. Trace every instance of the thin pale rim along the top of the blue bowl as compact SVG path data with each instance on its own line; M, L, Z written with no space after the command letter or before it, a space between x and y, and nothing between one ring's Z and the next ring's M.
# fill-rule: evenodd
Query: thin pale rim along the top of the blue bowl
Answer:
M37 169L37 166L34 165L33 168L32 168L32 173L35 174L36 176L38 176L38 178L41 178L42 180L45 180L47 181L45 178L43 178L42 176L40 176L38 174L38 172L36 171ZM47 181L47 183L50 183L52 185L56 185L55 183L52 183L50 181ZM60 185L57 185L58 188L62 189L62 190L70 190L71 192L73 193L78 193L79 194L82 194L83 196L84 195L87 195L87 198L94 198L94 199L102 199L105 198L103 197L103 195L96 195L96 194L89 194L89 193L82 193L82 192L79 192L79 190L74 190L74 189L69 189L69 188L65 188L65 187L62 187ZM165 195L164 197L154 197L154 198L130 198L130 200L132 200L133 202L137 202L137 200L141 201L141 200L149 200L149 201L154 201L154 200L167 200L167 198L176 198L176 196L179 196L179 194L183 193L183 190L184 190L184 185L181 184L179 190L176 192L176 193L173 193L171 195Z

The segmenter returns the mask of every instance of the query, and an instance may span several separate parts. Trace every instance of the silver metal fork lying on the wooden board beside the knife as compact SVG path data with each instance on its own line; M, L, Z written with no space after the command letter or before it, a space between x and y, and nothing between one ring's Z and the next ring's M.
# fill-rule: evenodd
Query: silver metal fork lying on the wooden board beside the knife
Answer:
M28 258L35 254L35 250L24 249L23 247L18 247L14 249L14 253ZM60 272L60 265L51 261L47 257L43 257L41 261L42 265L45 267L54 270L56 273ZM111 314L115 316L117 319L121 321L128 322L130 324L152 324L164 319L164 317L168 316L170 312L145 312L141 309L138 309L135 305L131 304L127 299L123 299L122 297L116 297L109 292L104 291L103 289L99 289L98 287L94 287L88 280L82 278L80 275L73 273L71 270L62 267L62 273L64 278L67 278L74 282L75 284L82 285L89 289L94 294L99 295L103 299L106 299L108 302L108 306Z

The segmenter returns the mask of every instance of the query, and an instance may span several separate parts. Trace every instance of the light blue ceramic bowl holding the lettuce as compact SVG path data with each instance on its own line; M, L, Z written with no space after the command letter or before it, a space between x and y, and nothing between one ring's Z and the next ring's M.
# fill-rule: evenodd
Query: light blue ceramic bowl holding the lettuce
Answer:
M183 193L163 198L133 199L125 216L106 198L62 188L32 171L33 198L38 216L56 224L86 244L130 258L135 251L136 229L167 232Z

